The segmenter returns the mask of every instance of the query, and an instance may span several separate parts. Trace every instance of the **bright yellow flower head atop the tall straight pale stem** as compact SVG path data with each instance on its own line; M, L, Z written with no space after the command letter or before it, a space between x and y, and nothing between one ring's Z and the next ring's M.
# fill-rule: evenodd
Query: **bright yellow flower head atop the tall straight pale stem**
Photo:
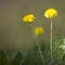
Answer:
M46 12L44 12L44 16L47 18L53 18L55 16L57 16L57 11L55 9L48 9Z

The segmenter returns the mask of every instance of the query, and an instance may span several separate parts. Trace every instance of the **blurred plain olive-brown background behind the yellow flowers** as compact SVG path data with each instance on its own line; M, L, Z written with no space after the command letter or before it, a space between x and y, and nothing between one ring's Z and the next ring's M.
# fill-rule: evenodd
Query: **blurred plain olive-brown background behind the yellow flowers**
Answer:
M35 14L34 28L42 26L44 34L41 39L49 40L50 22L43 16L49 8L58 12L53 20L53 36L65 37L65 0L0 0L0 48L6 51L27 51L31 48L31 28L22 22L27 13Z

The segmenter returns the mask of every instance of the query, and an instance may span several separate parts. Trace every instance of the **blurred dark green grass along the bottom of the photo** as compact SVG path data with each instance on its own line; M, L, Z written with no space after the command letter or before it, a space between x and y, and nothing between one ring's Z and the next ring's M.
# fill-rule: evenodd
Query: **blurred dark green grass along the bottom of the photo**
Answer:
M65 65L63 46L63 38L55 37L53 39L52 62L50 46L46 41L40 41L39 43L41 54L36 43L27 52L17 52L13 58L4 50L0 50L0 65Z

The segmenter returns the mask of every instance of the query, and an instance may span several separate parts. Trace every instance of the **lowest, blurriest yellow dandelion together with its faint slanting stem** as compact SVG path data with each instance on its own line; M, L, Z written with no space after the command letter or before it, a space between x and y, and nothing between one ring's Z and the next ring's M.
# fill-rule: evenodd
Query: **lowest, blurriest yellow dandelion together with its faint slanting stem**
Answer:
M40 36L40 35L42 35L43 32L44 32L44 29L43 29L42 27L36 27L36 28L35 28L35 35L36 35L36 36ZM38 37L37 37L37 39L38 39ZM40 49L40 46L39 46L39 42L38 42L38 41L39 41L39 40L36 40L36 44L37 44L37 47L38 47L38 51L39 51L39 53L40 53L42 64L44 64L42 51L41 51L41 49Z

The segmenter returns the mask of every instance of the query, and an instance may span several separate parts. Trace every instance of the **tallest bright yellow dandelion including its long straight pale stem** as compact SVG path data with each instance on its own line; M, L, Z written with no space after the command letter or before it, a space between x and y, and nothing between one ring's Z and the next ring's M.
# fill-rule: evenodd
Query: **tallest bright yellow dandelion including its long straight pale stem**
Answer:
M48 9L44 12L44 17L50 18L51 26L50 26L50 52L51 52L51 63L52 63L52 18L57 16L57 11L55 9Z

